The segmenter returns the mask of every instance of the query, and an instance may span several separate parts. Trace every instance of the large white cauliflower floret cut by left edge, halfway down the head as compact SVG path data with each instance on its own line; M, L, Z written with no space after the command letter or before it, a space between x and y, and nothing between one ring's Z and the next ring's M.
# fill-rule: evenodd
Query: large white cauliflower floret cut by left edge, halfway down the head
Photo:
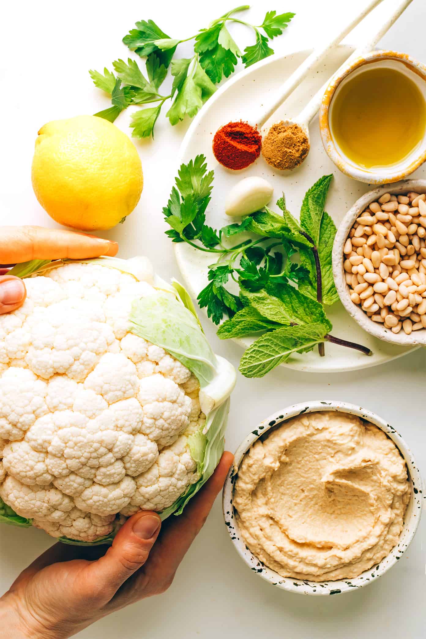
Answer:
M11 367L0 379L0 437L20 440L38 417L49 412L47 384L34 373Z

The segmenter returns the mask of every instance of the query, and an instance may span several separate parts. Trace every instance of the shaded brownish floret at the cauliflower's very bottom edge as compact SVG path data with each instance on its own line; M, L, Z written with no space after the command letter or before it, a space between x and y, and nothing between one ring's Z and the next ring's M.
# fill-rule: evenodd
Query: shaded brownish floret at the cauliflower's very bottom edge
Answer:
M114 530L114 520L115 515L100 517L73 508L63 521L33 520L33 525L45 530L51 537L95 541L100 537L107 537Z

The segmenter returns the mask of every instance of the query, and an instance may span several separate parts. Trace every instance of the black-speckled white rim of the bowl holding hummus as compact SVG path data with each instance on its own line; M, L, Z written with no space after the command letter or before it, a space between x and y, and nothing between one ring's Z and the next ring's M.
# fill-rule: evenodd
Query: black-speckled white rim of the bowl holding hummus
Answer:
M255 557L250 550L248 550L243 539L240 538L238 520L236 520L234 507L232 505L234 482L238 475L238 467L240 466L247 450L253 445L253 443L260 436L267 433L268 430L279 426L291 417L296 417L302 413L318 412L320 410L335 410L340 413L358 415L361 419L365 419L371 424L375 424L381 428L381 430L383 430L399 448L402 457L405 459L409 480L411 481L412 486L411 500L407 507L404 528L400 535L399 543L395 546L395 548L393 548L388 557L381 560L377 566L370 568L370 570L365 571L360 574L360 576L351 580L308 581L293 579L290 577L284 578L280 574L275 573L275 571L262 564L262 562L260 562L259 559ZM372 413L369 410L364 410L363 408L360 408L360 406L347 404L345 402L307 401L303 404L288 406L288 408L284 408L284 410L273 413L273 415L261 422L261 424L259 424L259 426L257 426L243 442L241 442L241 445L238 447L235 454L234 465L229 471L225 481L223 491L223 509L225 524L228 528L234 548L254 573L259 574L259 576L261 576L264 580L269 581L274 586L283 590L289 590L289 592L298 592L305 595L334 595L341 592L352 592L357 588L361 588L368 583L375 581L382 574L386 573L390 567L396 564L401 555L407 550L416 533L420 521L420 514L422 513L422 477L420 476L420 472L413 455L402 437L392 426L390 426L390 424L381 419L381 417L378 417L375 413Z

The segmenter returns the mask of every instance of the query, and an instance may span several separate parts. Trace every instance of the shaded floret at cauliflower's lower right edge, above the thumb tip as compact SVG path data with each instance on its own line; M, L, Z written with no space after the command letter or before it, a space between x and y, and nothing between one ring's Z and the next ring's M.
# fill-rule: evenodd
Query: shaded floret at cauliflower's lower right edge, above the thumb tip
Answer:
M168 508L190 484L197 481L196 469L188 439L181 436L160 452L149 470L136 477L136 491L129 507L125 507L121 513L129 516L138 510L162 511Z

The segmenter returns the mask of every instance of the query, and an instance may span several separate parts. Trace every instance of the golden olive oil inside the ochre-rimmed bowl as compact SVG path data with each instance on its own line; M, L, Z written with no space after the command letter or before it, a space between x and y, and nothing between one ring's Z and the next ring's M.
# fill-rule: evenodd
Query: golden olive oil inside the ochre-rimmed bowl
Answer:
M350 77L333 98L331 135L357 166L398 164L425 134L426 103L407 75L384 66Z

